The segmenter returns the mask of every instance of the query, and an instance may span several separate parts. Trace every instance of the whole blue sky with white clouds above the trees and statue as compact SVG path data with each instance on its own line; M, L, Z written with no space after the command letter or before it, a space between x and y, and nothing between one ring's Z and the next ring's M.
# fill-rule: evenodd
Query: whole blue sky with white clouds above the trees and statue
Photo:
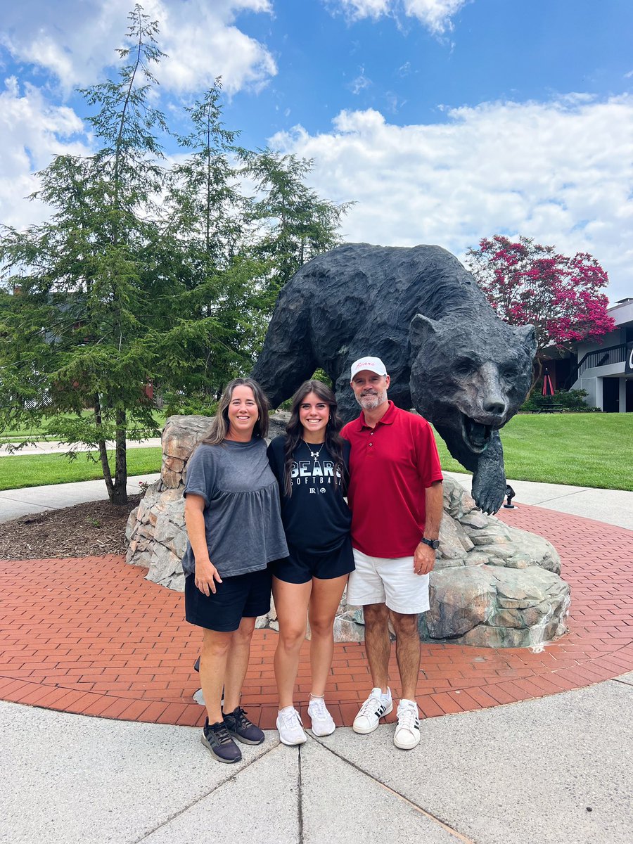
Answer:
M311 183L354 200L351 241L498 232L592 252L612 301L633 295L630 0L151 0L161 105L217 75L251 148L311 157ZM88 153L78 85L112 73L125 0L24 0L0 32L0 221L54 154ZM110 66L110 67L109 67ZM170 151L168 149L168 151Z

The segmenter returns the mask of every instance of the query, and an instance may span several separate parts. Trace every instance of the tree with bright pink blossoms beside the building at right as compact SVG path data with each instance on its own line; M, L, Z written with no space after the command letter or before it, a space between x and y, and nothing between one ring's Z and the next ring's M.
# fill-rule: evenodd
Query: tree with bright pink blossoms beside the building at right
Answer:
M533 325L537 353L533 385L548 346L571 349L580 340L599 340L615 327L601 291L607 273L587 252L567 257L531 237L511 241L484 237L469 249L466 265L498 317L511 325Z

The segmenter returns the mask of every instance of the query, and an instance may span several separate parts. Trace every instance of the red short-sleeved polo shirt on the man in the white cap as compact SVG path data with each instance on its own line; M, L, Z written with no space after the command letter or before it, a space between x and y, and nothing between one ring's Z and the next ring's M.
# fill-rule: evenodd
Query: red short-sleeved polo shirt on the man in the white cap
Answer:
M375 428L365 413L341 431L349 440L352 544L371 557L413 556L425 531L425 490L442 480L426 419L389 402Z

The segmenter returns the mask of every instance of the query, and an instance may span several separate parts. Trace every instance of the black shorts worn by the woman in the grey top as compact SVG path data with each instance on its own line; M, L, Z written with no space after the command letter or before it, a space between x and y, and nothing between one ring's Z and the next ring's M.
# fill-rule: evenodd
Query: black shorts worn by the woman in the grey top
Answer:
M231 632L241 619L265 615L270 609L270 566L247 575L223 577L215 584L215 594L205 595L196 586L195 576L185 578L185 618L189 624L207 630Z

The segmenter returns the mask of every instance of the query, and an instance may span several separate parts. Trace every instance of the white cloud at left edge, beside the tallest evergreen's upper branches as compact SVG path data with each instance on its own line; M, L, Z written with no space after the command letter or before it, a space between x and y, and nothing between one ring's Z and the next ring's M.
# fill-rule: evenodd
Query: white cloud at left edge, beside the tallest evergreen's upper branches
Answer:
M51 106L32 85L20 92L14 77L0 93L0 222L23 228L49 213L41 203L29 203L39 187L34 173L57 154L88 154L84 126L72 109Z

